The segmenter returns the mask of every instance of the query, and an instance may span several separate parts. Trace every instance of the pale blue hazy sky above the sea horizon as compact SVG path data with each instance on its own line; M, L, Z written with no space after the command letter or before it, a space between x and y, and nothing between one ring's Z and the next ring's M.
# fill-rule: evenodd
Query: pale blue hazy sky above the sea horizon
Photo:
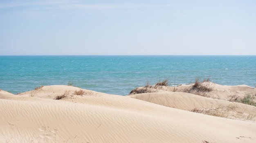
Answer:
M256 0L0 0L0 55L256 55Z

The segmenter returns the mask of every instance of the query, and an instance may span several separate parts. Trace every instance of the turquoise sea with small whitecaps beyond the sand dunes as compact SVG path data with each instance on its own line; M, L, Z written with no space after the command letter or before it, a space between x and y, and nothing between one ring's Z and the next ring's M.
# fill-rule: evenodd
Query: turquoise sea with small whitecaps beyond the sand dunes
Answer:
M115 95L168 79L169 86L210 78L221 85L256 86L255 55L0 56L0 89L17 94L68 85Z

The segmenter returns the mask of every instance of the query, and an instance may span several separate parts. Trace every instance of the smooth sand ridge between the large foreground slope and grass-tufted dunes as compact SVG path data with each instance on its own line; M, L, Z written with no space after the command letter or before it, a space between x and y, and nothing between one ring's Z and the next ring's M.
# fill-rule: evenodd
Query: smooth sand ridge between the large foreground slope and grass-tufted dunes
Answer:
M243 103L212 99L184 92L152 92L129 95L135 99L181 110L200 112L242 121L256 121L256 107Z

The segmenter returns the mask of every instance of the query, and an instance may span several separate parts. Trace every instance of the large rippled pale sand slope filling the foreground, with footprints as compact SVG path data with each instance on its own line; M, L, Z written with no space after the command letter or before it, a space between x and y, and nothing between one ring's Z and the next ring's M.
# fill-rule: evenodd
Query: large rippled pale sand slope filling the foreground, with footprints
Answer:
M72 86L0 91L0 141L9 143L255 143L256 123ZM54 100L58 95L67 97ZM162 100L165 100L164 98ZM203 102L201 102L203 103Z

